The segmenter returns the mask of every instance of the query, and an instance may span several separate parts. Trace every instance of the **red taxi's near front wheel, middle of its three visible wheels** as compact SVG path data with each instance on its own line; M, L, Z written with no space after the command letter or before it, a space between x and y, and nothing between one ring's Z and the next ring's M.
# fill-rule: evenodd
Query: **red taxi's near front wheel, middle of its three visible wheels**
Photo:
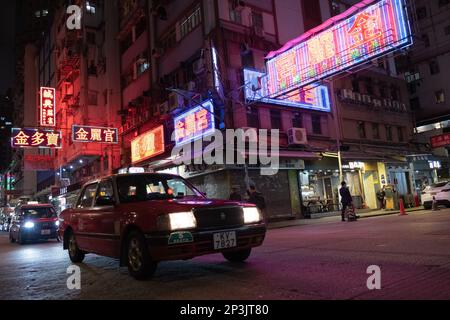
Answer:
M151 259L145 238L140 232L133 231L128 235L126 250L130 275L137 280L149 279L158 264Z

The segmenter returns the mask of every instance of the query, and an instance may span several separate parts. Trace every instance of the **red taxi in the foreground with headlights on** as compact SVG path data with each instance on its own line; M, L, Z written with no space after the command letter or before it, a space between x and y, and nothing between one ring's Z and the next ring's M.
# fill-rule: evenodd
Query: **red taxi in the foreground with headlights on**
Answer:
M266 234L255 206L207 199L167 174L119 174L88 183L60 221L72 262L87 253L117 258L136 279L151 277L166 260L222 253L243 262Z

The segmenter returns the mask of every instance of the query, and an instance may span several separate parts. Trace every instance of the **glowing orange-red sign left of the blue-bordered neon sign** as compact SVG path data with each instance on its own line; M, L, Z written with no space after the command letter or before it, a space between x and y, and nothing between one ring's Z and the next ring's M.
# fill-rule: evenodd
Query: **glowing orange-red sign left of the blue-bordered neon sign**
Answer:
M148 131L131 141L131 161L138 163L164 153L164 127Z

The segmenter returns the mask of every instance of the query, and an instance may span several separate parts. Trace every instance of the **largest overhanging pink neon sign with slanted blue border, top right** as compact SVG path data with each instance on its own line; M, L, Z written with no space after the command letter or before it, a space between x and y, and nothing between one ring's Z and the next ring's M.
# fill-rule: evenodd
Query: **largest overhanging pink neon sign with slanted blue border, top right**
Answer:
M405 0L365 0L267 58L272 98L412 44ZM337 23L336 23L337 22Z

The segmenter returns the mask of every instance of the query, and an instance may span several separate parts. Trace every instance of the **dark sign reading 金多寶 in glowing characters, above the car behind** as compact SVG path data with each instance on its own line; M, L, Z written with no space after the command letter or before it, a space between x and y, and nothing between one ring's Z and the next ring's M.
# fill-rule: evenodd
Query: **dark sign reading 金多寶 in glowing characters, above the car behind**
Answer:
M45 129L12 129L11 146L13 148L61 148L61 131Z

